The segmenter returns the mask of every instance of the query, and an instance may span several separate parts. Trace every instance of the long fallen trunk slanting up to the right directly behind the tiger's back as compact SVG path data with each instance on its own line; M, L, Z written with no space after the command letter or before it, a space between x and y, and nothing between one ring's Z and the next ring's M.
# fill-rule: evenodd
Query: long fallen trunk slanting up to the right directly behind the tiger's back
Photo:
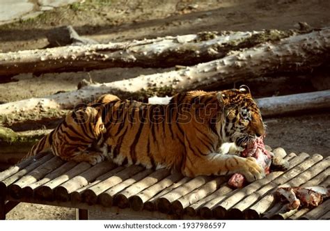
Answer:
M285 38L274 44L266 43L236 51L224 58L181 70L93 84L69 93L1 104L0 114L7 119L22 112L36 115L49 109L72 109L104 93L112 93L122 99L146 99L152 95L173 95L183 90L217 88L266 74L310 72L330 58L329 40L330 28L326 28Z

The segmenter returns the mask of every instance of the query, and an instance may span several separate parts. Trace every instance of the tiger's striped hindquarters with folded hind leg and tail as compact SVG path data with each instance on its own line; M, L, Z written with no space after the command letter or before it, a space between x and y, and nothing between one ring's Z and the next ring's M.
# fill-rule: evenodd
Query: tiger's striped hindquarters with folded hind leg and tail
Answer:
M68 113L63 122L33 145L21 161L52 150L54 155L65 161L87 161L95 165L103 160L100 153L103 156L107 154L104 134L100 111L86 106Z

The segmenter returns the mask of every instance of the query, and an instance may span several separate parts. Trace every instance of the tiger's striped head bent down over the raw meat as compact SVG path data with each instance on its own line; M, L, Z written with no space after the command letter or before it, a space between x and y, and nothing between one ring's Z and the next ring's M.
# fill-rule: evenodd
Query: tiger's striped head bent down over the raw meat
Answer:
M255 138L265 135L260 110L247 86L218 93L222 104L221 133L223 142L244 147Z

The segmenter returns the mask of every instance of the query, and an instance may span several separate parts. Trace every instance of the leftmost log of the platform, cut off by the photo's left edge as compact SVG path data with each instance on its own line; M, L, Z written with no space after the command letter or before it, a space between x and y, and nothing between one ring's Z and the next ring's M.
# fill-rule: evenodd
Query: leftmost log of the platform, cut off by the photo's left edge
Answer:
M26 166L22 170L19 170L17 173L11 175L10 177L6 178L5 180L0 182L0 191L2 191L4 188L9 186L10 184L13 184L13 182L17 181L20 177L26 175L27 173L30 173L31 170L37 168L40 164L45 163L49 159L52 159L54 157L53 154L46 154L44 157L41 157L40 159L33 161L29 166Z

